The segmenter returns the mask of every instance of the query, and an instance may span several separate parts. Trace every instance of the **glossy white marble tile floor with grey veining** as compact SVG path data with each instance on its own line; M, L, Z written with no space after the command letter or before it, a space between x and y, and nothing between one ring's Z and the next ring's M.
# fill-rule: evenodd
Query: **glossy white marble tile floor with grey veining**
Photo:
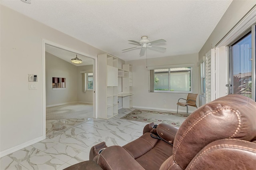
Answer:
M105 141L123 146L142 135L147 123L120 119L133 111L119 109L106 119L46 121L46 139L0 158L0 170L63 170L89 160L90 148Z

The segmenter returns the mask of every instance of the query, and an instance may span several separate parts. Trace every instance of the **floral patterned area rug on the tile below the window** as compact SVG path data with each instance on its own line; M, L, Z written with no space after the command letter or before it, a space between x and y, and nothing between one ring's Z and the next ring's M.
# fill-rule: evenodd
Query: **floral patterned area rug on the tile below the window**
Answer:
M167 123L174 127L180 127L180 125L186 120L186 115L177 114L177 113L168 113L168 112L160 112L160 111L146 111L135 109L134 111L128 113L121 119L127 119L132 121L140 121L155 124L159 123Z

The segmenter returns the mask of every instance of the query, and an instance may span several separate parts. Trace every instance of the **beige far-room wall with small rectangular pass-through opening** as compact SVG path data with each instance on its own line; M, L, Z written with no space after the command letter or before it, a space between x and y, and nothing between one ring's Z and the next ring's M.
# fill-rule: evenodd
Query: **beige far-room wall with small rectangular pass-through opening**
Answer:
M78 74L75 65L46 52L45 72L46 107L77 101ZM66 89L53 90L52 77L66 78Z

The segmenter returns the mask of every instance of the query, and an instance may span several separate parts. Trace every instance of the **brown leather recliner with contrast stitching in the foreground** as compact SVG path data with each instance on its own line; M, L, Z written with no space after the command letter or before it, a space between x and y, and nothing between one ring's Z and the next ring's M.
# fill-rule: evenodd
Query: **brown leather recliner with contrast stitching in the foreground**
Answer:
M216 99L178 130L153 126L146 125L140 138L122 147L104 142L92 147L90 160L104 170L256 169L256 103L248 97Z

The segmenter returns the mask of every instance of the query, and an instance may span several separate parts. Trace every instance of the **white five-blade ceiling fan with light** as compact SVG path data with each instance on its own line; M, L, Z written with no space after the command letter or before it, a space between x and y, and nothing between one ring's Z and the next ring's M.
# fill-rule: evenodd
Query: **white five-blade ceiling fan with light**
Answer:
M150 40L148 40L148 36L142 36L140 42L137 42L137 41L134 41L134 40L128 40L128 41L129 42L134 42L134 43L137 43L137 44L140 45L140 46L137 46L137 47L141 47L140 56L144 55L147 47L157 49L157 50L161 50L161 51L166 50L166 48L164 48L164 47L158 47L158 46L152 45L152 44L156 44L156 43L166 42L166 40L164 40L164 39L159 39L159 40L155 40L155 41L150 42ZM127 49L132 49L132 48L137 48L137 47L131 47L131 48L127 48ZM127 49L122 49L122 51L127 50Z

